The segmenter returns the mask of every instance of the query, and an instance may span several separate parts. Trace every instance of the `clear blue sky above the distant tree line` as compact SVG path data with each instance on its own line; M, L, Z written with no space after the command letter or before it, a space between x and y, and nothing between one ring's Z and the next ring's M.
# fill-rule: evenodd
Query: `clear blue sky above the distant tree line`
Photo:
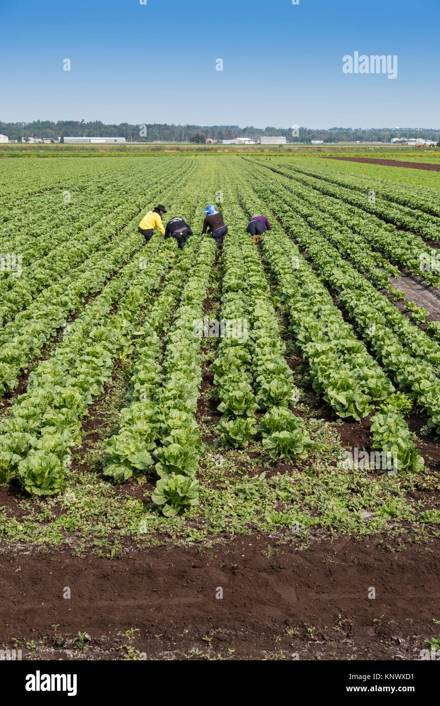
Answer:
M440 127L440 0L0 0L0 13L2 121ZM344 74L355 51L397 54L398 77Z

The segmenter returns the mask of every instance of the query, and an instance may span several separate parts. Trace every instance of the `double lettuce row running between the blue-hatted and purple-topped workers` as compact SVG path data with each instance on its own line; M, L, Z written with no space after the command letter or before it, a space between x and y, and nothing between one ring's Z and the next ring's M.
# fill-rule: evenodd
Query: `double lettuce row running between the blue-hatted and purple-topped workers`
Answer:
M218 429L227 445L247 445L261 436L273 458L304 457L313 443L303 419L289 409L298 390L261 259L245 231L243 210L230 200L223 210L234 231L223 246L221 318L235 331L220 338L211 365L222 412ZM264 412L258 424L257 411Z

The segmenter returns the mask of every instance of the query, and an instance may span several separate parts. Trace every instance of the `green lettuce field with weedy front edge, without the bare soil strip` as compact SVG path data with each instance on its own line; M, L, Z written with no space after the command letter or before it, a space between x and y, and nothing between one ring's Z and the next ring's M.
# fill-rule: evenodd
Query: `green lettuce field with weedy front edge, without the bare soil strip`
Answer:
M1 249L23 271L0 280L0 479L33 496L25 522L1 511L6 542L75 532L78 551L111 553L127 535L204 542L295 523L304 540L391 522L437 532L436 501L412 491L439 486L440 333L429 311L393 304L405 296L390 277L406 268L439 286L420 258L440 239L440 196L364 166L4 162ZM216 200L230 229L221 253L200 234ZM143 246L138 222L156 201L191 223L183 251L160 234ZM273 225L258 246L253 213ZM204 316L246 321L246 340L195 335ZM354 422L349 450L396 454L395 472L345 467L340 432Z

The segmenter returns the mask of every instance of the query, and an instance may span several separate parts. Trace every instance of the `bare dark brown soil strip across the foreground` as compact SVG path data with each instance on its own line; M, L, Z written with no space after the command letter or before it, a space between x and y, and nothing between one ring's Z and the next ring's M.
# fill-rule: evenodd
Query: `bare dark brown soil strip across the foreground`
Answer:
M121 659L134 649L147 659L200 650L232 659L418 660L424 640L438 637L440 540L397 551L376 537L301 551L294 542L268 547L270 538L254 534L202 552L128 549L114 561L4 554L0 645L16 638L23 659ZM126 635L130 628L138 632ZM78 632L86 633L82 649ZM36 651L25 649L31 640Z

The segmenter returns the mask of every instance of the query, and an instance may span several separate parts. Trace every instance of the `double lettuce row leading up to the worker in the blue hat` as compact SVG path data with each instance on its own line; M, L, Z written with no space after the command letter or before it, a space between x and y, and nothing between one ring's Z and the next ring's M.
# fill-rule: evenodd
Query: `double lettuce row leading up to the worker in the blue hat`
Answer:
M119 433L104 456L104 474L117 482L157 472L152 499L167 516L198 500L201 338L194 335L194 321L203 318L215 249L212 239L195 235L165 278L133 352L131 404L121 412Z

